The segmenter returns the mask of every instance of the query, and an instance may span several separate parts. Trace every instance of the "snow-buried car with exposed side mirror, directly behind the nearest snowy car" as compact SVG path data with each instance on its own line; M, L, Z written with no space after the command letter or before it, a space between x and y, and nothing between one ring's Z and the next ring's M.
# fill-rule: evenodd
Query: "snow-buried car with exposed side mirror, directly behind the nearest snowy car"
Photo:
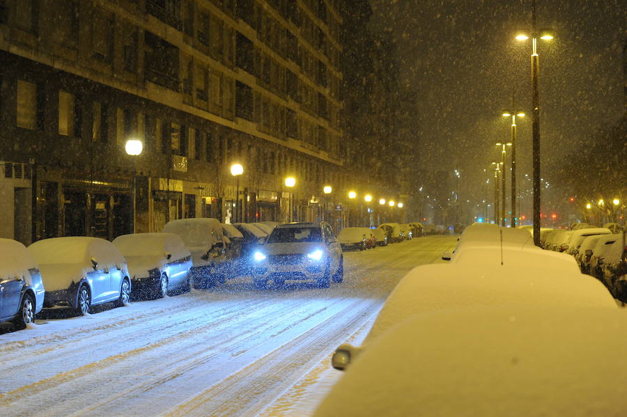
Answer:
M421 265L405 275L387 297L362 347L341 345L332 357L332 365L345 369L372 340L412 315L469 306L617 308L603 284L577 269L546 269L538 263L527 267Z

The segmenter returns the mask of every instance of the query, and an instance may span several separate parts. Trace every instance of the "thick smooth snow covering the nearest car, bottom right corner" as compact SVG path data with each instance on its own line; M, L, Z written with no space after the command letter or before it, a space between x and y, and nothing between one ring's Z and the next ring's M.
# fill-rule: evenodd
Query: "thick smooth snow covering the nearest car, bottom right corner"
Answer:
M314 416L617 416L626 328L617 308L415 315L360 354Z

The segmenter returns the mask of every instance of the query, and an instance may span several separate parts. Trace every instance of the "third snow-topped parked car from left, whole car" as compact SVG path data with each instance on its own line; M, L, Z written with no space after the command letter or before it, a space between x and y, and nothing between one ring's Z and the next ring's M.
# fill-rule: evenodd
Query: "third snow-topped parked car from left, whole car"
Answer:
M173 233L135 233L114 239L124 255L133 298L160 298L189 292L192 254Z

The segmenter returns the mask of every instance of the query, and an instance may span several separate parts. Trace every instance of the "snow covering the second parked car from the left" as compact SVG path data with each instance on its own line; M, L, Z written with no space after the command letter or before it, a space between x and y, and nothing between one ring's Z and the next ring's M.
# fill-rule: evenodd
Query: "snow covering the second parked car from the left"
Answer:
M98 269L122 269L127 274L126 260L111 242L99 237L52 237L31 244L29 252L39 264L46 291L64 290Z

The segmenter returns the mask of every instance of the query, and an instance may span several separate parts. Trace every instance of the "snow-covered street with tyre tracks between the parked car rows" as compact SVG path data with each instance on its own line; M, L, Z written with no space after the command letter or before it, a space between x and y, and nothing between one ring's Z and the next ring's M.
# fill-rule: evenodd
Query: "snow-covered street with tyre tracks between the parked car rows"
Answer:
M343 283L211 290L38 320L0 335L3 416L308 416L412 267L442 262L456 237L344 254Z

